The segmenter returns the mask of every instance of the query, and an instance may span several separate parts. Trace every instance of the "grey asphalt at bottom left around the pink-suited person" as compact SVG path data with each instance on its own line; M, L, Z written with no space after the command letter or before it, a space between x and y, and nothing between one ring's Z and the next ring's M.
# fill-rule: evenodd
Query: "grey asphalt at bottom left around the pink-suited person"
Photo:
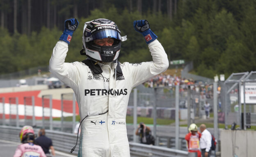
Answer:
M0 157L12 157L19 144L21 143L0 139ZM75 155L62 153L56 150L55 154L55 157L77 157Z

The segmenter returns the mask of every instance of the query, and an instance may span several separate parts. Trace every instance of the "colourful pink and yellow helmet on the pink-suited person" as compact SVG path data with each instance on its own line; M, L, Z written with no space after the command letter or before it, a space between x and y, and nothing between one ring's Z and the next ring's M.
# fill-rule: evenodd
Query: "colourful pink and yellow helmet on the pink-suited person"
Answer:
M23 126L19 136L21 139L21 143L33 142L35 135L32 126Z

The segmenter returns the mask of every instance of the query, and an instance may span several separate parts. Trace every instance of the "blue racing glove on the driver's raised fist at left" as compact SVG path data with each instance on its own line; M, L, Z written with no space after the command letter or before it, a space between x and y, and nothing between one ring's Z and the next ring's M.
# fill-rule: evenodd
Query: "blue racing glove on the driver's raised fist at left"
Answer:
M60 36L59 40L63 40L69 44L79 22L76 18L71 18L69 20L65 20L64 24L64 32L62 33L62 36Z

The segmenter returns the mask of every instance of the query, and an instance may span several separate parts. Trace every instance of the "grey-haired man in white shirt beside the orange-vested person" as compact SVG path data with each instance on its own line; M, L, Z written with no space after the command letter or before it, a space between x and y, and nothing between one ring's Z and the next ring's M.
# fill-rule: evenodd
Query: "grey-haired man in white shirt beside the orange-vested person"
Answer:
M211 133L206 129L205 124L200 125L200 131L201 131L201 138L200 138L200 148L202 157L210 157L212 146L212 135Z

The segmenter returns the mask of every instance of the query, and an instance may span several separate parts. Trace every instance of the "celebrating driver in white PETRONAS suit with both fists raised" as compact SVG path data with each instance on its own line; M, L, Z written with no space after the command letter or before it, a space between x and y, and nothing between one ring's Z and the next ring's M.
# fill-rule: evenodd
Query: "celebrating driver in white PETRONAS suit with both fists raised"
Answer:
M82 35L82 62L64 62L73 32L73 18L64 22L64 32L53 49L49 69L76 95L82 119L78 157L130 157L126 111L132 89L164 72L169 62L164 48L147 20L133 26L142 33L153 57L151 62L121 64L117 61L121 36L117 24L107 19L85 22ZM73 148L74 149L74 148ZM71 150L72 151L72 150Z

